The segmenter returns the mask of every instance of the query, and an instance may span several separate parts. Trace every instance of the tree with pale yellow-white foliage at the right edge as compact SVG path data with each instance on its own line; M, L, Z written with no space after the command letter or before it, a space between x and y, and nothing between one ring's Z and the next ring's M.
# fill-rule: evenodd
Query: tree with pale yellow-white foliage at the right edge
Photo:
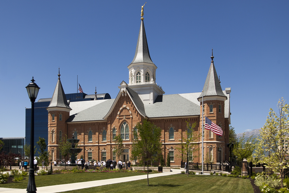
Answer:
M289 160L285 159L289 141L289 105L281 98L277 108L277 113L270 109L266 123L260 130L260 137L257 137L254 156L260 163L265 163L269 170L280 173L283 188L283 180L289 168Z

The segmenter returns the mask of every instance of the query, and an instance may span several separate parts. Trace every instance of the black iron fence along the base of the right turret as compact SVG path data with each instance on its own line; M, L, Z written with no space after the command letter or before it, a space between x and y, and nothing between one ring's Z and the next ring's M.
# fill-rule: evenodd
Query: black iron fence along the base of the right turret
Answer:
M185 162L181 162L181 168L185 168ZM189 170L198 170L202 171L202 163L194 163L189 162L188 163L188 169ZM227 164L216 164L216 163L204 163L204 171L208 172L231 172L230 165Z

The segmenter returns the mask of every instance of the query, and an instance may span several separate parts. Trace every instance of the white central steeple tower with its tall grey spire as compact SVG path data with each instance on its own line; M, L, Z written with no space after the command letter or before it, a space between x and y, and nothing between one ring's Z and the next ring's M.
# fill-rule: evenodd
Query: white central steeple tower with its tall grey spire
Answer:
M134 54L134 59L127 68L129 69L128 86L138 93L144 104L153 104L158 95L163 95L165 93L155 81L155 71L158 67L153 63L151 56L149 55L149 46L147 44L143 17L141 18L140 32L138 33L136 53Z

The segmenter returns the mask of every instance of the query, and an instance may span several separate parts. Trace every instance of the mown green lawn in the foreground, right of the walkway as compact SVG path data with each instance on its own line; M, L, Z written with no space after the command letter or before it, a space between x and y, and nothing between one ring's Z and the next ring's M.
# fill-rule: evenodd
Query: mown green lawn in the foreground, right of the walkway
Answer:
M150 187L147 186L147 179L121 184L111 184L85 188L80 190L67 191L65 193L94 193L94 192L200 192L200 193L254 193L249 179L231 178L222 176L201 176L175 174L170 176L155 177L149 179ZM63 192L64 193L64 192Z

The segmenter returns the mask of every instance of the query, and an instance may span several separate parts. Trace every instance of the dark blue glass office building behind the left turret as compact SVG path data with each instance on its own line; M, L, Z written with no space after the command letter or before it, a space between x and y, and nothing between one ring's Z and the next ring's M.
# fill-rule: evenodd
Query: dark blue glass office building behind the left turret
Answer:
M82 102L90 101L95 99L95 95L87 95L86 93L70 93L65 94L68 103L70 102ZM97 94L97 100L110 99L108 93ZM34 103L34 144L36 148L39 149L36 141L39 141L39 137L45 139L48 145L48 111L47 107L51 102L51 98L42 98ZM26 109L26 124L25 124L25 139L26 143L30 144L30 130L31 130L31 108ZM46 149L48 150L48 149ZM38 156L38 151L36 151L35 156Z

